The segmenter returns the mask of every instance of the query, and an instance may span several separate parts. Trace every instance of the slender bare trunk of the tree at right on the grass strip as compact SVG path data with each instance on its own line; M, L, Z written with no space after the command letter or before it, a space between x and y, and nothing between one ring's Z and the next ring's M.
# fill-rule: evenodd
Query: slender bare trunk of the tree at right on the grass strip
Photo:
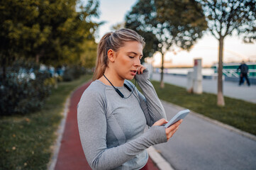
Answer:
M222 69L223 69L223 41L224 38L218 39L218 94L217 94L217 105L225 106L223 97L223 81L222 81Z

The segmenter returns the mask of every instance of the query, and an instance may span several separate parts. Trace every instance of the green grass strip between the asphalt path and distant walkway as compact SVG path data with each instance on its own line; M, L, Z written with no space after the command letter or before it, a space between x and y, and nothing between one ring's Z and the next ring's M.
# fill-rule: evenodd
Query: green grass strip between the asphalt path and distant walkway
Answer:
M164 89L160 88L159 81L152 81L152 84L158 97L164 101L256 135L255 103L225 97L226 106L218 107L216 94L189 94L186 89L172 84L165 84Z

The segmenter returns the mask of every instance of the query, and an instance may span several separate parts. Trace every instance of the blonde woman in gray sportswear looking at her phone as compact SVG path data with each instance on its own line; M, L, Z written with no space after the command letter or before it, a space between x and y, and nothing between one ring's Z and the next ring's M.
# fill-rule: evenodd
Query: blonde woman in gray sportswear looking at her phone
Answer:
M133 30L106 33L98 45L94 81L77 108L79 135L92 169L142 169L145 149L167 142L182 120L166 128L165 110L140 64L143 38ZM135 78L143 94L130 79ZM146 125L151 128L144 132Z

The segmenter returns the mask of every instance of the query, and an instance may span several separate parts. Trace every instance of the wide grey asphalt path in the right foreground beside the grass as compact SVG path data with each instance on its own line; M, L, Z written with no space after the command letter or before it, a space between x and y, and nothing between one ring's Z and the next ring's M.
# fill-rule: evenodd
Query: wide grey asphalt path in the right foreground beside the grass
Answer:
M162 104L168 120L184 109ZM249 135L192 112L168 142L154 147L173 169L256 169L256 136Z

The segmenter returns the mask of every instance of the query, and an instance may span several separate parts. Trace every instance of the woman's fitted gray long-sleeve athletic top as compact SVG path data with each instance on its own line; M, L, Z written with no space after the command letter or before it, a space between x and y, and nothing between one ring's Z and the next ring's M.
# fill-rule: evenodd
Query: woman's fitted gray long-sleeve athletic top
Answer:
M166 118L148 70L137 74L143 94L135 88L129 98L121 98L112 86L99 80L84 91L77 106L80 140L92 169L141 169L148 162L145 149L167 142L165 128L152 126ZM133 84L125 81L130 89ZM125 97L130 91L116 87ZM144 132L145 126L152 126Z

